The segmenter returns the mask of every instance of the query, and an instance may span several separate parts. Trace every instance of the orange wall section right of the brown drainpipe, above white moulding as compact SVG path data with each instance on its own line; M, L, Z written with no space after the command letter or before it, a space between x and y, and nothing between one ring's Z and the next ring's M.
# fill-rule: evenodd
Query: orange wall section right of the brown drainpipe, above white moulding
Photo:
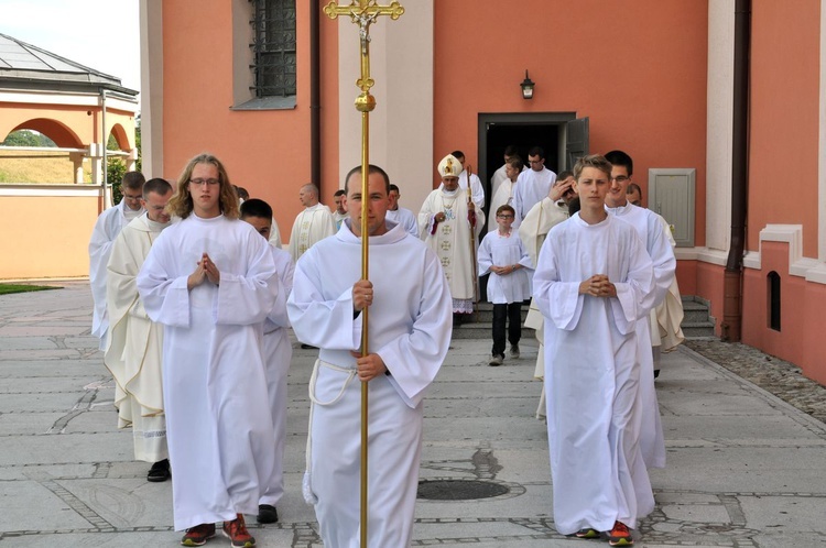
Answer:
M817 257L819 4L752 3L750 250L767 224L803 224L803 255ZM786 205L786 186L809 199Z

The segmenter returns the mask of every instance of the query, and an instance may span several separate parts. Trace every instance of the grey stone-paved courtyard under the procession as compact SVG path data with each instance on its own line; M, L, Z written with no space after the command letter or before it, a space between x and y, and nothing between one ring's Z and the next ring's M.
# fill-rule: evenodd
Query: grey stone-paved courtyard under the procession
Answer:
M83 282L0 296L0 546L178 542L171 483L148 483L130 431L116 428L90 310ZM425 404L421 478L502 493L420 498L414 546L607 546L554 529L545 427L534 418L535 341L501 368L487 365L489 344L454 341ZM301 496L313 361L296 346L281 523L248 519L261 547L322 546ZM826 546L823 423L688 349L664 358L657 394L669 464L651 473L657 507L637 546Z

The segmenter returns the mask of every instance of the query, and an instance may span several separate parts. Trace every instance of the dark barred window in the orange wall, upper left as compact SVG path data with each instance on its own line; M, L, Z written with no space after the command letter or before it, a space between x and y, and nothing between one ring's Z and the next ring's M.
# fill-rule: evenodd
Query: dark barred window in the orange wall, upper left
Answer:
M295 95L295 0L252 3L252 81L256 97Z

